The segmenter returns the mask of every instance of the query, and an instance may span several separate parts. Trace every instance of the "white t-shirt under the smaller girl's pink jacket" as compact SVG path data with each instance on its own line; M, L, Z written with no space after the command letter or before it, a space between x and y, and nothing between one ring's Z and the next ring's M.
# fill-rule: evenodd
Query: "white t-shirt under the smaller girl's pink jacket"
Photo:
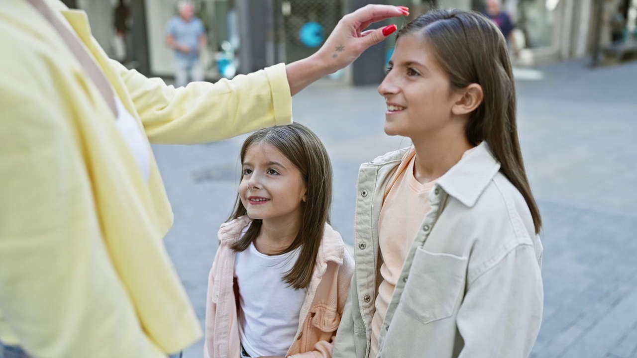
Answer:
M289 287L283 275L294 266L300 250L270 256L252 243L236 254L241 344L252 357L285 356L294 342L305 289Z

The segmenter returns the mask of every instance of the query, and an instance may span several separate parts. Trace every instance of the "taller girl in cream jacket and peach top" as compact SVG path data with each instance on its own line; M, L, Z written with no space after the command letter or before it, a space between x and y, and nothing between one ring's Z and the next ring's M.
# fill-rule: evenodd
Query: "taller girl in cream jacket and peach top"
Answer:
M505 38L478 13L422 15L397 33L378 92L385 132L413 147L359 171L357 272L334 357L528 357L541 220Z

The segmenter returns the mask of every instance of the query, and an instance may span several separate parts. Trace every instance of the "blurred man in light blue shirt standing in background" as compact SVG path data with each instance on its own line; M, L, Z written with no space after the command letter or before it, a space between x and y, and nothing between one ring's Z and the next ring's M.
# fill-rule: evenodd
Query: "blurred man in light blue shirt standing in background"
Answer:
M179 1L177 9L179 16L171 18L166 28L166 43L175 50L175 87L182 87L204 79L199 53L205 49L206 29L194 16L190 1Z

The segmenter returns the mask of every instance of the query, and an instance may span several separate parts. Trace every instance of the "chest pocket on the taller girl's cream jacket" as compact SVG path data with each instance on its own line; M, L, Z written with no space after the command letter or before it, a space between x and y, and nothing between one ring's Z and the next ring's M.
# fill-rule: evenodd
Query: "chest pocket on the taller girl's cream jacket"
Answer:
M467 258L419 247L401 296L406 313L423 324L454 315L466 281Z

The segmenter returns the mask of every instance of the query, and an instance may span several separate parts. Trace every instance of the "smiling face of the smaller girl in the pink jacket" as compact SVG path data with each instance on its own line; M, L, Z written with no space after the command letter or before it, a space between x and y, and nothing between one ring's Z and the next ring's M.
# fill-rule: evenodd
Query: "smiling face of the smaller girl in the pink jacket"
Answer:
M299 169L275 147L254 143L243 158L239 197L253 219L301 220L307 187Z

